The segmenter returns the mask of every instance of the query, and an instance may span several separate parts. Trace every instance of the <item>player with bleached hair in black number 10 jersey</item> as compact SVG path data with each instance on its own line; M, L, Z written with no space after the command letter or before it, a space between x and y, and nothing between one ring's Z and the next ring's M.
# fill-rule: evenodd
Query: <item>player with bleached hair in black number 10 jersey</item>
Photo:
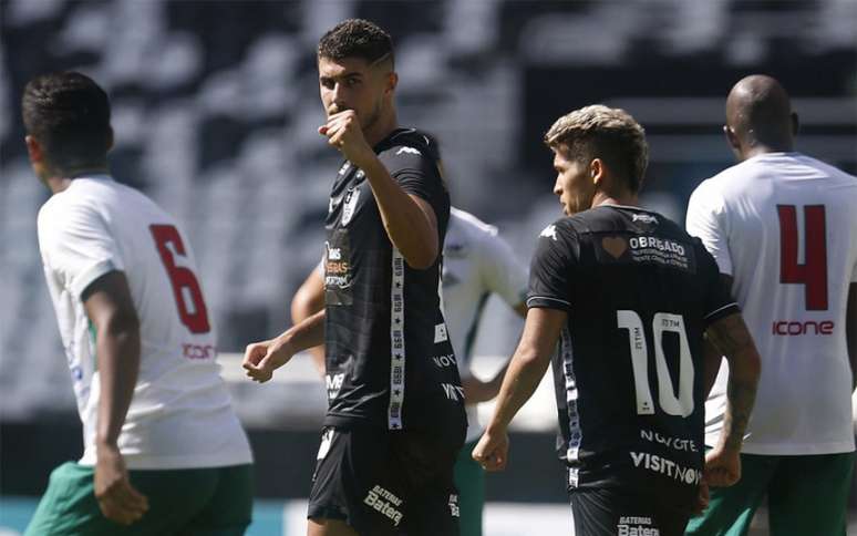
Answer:
M740 477L758 354L702 244L637 206L648 148L633 117L587 106L545 141L567 217L539 237L524 334L473 456L487 470L506 465L508 423L559 341L558 453L574 534L681 535L706 483ZM731 375L724 433L703 480L704 334Z

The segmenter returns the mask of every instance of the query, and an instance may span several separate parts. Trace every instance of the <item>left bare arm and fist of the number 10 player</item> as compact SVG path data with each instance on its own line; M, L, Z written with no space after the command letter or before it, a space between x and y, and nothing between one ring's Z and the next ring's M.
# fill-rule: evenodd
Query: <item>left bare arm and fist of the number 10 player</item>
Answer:
M473 450L473 458L487 471L500 471L508 461L508 425L533 396L545 375L568 313L557 309L533 308L524 333L503 380L497 406L485 434Z

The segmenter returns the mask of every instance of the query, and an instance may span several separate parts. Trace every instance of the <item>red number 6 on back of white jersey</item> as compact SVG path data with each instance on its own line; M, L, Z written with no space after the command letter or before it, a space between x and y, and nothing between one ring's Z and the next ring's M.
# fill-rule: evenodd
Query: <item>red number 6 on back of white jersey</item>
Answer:
M182 319L192 333L207 333L211 330L208 323L208 310L205 307L203 291L199 282L192 270L183 266L176 266L173 251L167 244L173 244L176 254L185 256L185 245L178 230L172 225L153 225L149 227L152 236L155 238L157 252L161 254L161 260L169 276L169 282L173 285L173 296L178 307L178 318ZM187 307L190 301L193 308Z

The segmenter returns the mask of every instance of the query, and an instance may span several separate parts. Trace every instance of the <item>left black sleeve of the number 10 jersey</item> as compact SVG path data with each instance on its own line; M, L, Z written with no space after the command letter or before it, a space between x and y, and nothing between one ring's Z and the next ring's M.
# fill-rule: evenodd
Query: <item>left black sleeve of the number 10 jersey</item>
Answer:
M571 310L571 281L578 266L577 235L560 224L548 225L539 235L529 267L527 307Z

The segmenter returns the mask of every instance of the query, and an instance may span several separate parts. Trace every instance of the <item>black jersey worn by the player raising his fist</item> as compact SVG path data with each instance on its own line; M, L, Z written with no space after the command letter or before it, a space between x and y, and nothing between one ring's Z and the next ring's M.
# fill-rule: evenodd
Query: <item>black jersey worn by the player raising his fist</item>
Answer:
M437 151L400 128L375 147L405 193L431 204L443 248L450 195ZM441 256L407 266L384 230L363 172L339 169L326 223L326 425L437 431L463 442L464 396L441 311Z

